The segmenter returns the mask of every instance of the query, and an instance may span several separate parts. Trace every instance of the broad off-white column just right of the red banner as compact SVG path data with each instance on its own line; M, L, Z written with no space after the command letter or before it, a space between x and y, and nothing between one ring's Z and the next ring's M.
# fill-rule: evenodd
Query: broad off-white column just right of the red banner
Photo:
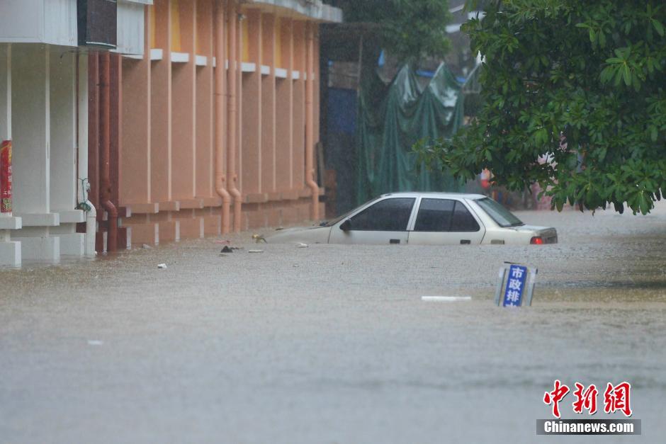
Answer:
M50 203L50 53L46 45L22 44L12 48L12 135L14 212L23 229L23 259L57 261L60 238L50 227L60 215Z

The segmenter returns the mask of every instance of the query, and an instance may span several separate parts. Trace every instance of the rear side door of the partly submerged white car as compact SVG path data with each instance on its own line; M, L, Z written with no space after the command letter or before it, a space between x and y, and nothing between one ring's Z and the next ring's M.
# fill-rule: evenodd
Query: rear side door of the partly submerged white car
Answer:
M463 200L422 198L409 242L416 245L480 244L485 228Z

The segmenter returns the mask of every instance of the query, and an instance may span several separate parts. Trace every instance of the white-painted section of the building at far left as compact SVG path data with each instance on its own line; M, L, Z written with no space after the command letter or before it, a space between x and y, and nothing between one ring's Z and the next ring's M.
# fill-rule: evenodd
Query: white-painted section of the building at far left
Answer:
M130 30L142 25L149 3L120 0L127 13L118 18L118 40L126 48L118 51L142 50L143 30L140 40ZM13 211L0 213L0 266L94 254L85 227L77 229L94 210L77 208L86 200L90 52L77 47L76 0L0 2L0 140L11 140L13 152Z

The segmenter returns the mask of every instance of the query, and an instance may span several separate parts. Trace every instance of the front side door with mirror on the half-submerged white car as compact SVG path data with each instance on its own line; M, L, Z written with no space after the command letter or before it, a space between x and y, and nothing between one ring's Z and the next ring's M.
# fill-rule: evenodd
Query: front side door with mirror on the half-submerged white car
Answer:
M331 230L331 244L406 244L416 198L385 198L341 220ZM348 222L349 229L341 226Z

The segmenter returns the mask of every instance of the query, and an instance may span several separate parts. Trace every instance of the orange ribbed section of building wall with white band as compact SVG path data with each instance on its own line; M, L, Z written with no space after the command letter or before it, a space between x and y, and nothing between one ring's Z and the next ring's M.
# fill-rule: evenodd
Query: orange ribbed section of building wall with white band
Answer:
M310 219L305 184L305 79L314 81L318 137L318 53L305 72L306 32L317 22L265 2L237 5L237 66L228 62L229 23L218 28L215 8L226 1L155 0L145 14L144 57L120 62L118 206L132 243L197 238L222 232L222 198L215 190L222 153L225 183L237 176L240 222L230 229ZM228 18L228 16L225 16ZM217 33L225 60L215 57ZM318 42L313 45L317 48ZM224 69L222 90L215 71ZM229 171L228 76L237 76L236 169ZM222 125L215 99L222 94ZM222 132L222 145L215 144ZM323 213L322 213L323 214ZM230 219L234 220L233 206Z

